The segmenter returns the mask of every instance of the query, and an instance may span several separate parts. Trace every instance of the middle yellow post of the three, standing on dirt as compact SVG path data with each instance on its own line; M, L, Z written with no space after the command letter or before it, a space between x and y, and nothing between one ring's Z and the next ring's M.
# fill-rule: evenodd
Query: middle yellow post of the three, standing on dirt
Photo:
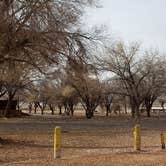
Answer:
M134 150L141 150L140 125L134 126Z

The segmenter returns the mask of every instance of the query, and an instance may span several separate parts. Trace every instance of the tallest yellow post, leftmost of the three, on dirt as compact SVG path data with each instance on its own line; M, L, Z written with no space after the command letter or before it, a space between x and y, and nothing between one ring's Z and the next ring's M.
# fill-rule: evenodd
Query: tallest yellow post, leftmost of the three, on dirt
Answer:
M54 130L54 159L61 158L61 128Z

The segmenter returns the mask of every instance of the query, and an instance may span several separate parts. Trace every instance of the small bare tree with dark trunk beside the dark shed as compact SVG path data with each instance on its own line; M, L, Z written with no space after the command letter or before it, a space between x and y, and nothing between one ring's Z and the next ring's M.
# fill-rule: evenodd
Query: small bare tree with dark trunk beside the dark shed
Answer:
M1 81L3 82L3 88L5 89L5 96L8 99L4 116L9 114L16 114L15 110L11 110L11 102L14 99L16 93L31 85L34 79L36 79L35 70L28 64L20 64L15 62L15 67L10 71L8 65L1 65Z

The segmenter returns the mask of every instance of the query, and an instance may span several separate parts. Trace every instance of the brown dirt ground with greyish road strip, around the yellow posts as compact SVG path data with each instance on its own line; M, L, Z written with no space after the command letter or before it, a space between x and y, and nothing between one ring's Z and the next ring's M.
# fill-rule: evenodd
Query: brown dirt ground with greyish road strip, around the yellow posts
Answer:
M160 133L166 116L141 120L142 149L133 150L129 117L87 120L58 116L0 119L0 165L3 166L165 166ZM62 128L62 158L53 159L53 131Z

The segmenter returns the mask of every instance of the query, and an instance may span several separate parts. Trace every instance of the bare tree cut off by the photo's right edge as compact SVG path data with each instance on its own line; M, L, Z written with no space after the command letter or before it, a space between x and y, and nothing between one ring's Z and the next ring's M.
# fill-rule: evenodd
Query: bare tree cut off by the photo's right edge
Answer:
M165 58L160 56L159 52L146 52L144 60L144 70L150 68L150 73L144 79L144 91L146 92L144 105L147 116L150 117L150 111L154 101L165 93L166 87L166 66Z

